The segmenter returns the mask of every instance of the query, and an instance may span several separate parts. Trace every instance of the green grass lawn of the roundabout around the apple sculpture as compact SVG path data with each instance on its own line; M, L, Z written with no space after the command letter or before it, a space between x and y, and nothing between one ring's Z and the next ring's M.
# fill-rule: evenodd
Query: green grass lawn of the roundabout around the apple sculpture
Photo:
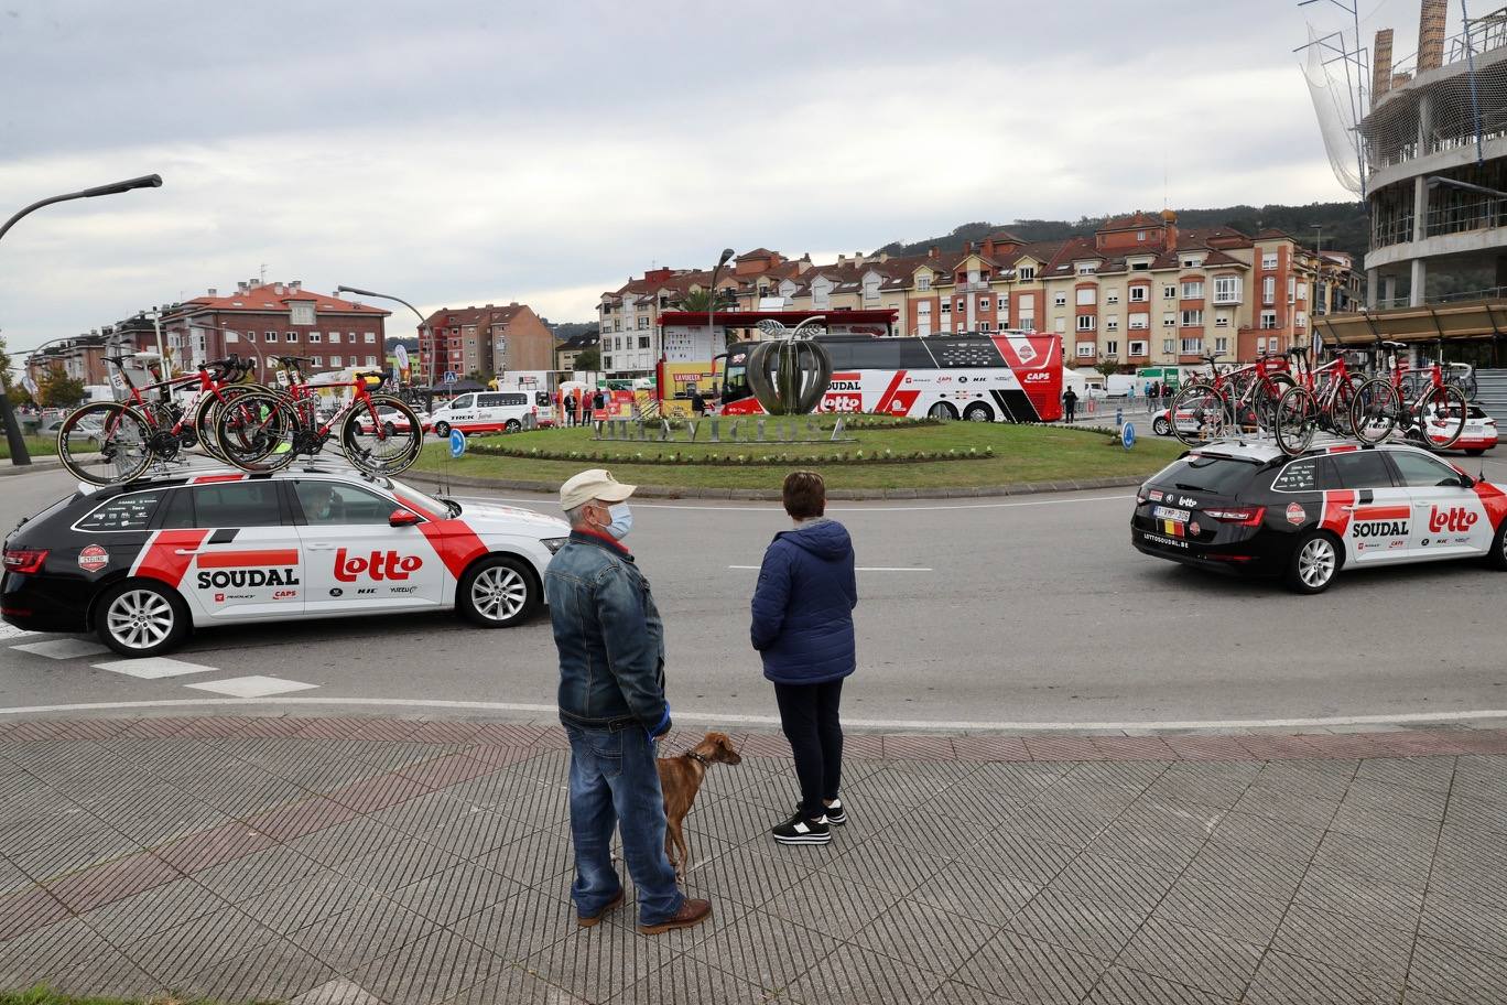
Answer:
M723 423L723 431L726 425ZM702 431L702 438L705 431ZM414 466L414 470L466 478L508 478L520 481L562 482L586 467L609 467L625 482L642 485L677 485L687 488L779 488L785 473L796 467L812 467L821 472L829 488L969 488L983 485L1005 485L1011 482L1052 482L1067 479L1115 478L1150 475L1177 457L1183 448L1175 440L1147 437L1132 451L1124 451L1118 440L1093 432L1046 426L1014 426L984 422L949 422L934 426L864 429L851 434L854 443L687 443L684 432L677 432L674 443L622 443L597 441L589 429L540 429L536 432L514 432L499 437L473 437L472 446L506 443L541 451L580 451L598 454L591 460L544 461L517 457L485 457L467 454L452 461L449 448L431 443ZM704 466L704 464L653 464L636 463L637 454L645 458L668 454L744 454L763 457L793 454L800 458L817 455L830 458L838 452L848 455L895 454L910 451L946 451L993 448L995 455L984 460L915 461L891 464L841 464L830 460L817 463L791 461L773 466Z

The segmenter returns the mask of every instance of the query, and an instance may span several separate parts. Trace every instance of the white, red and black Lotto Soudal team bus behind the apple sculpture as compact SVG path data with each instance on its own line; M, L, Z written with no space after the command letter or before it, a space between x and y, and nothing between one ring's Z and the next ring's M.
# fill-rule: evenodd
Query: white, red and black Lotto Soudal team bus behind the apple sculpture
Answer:
M927 338L826 334L832 384L818 411L867 411L969 422L1055 422L1062 417L1062 342L1056 334L990 331ZM760 414L747 354L735 342L714 360L722 414Z

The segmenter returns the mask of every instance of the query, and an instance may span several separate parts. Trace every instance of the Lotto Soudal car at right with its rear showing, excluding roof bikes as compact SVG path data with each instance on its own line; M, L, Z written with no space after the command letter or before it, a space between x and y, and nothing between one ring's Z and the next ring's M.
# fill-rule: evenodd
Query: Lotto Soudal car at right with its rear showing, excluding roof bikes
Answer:
M1270 443L1189 451L1136 491L1130 542L1159 559L1279 576L1317 594L1341 568L1474 557L1507 570L1507 493L1420 448Z

